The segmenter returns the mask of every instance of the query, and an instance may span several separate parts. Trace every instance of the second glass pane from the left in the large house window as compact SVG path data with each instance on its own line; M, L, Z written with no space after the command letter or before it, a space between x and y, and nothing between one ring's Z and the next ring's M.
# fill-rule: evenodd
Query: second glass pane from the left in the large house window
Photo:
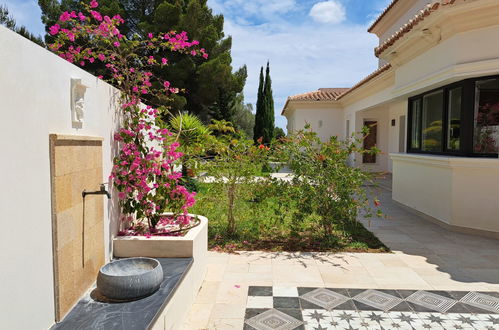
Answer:
M442 118L444 92L439 90L423 97L421 150L442 151Z

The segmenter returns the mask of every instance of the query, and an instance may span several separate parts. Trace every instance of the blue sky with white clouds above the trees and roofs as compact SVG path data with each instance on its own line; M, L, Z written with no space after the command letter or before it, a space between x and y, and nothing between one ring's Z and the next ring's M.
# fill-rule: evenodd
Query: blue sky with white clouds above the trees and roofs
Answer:
M246 102L255 103L260 67L270 61L276 125L286 98L321 87L349 87L376 69L367 27L390 0L208 0L232 35L234 68L248 65ZM0 0L19 24L43 34L35 0Z

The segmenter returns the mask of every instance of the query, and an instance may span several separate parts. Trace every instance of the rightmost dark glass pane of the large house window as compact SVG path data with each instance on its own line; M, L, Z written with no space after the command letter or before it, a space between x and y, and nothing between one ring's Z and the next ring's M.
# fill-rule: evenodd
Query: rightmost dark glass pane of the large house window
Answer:
M474 152L496 154L499 150L499 79L475 84Z

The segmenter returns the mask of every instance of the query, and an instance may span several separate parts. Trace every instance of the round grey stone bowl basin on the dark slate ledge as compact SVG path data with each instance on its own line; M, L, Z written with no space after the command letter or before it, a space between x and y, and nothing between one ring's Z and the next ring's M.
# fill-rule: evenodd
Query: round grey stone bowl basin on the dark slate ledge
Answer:
M97 289L111 300L135 300L156 292L163 281L163 268L152 258L120 259L102 266Z

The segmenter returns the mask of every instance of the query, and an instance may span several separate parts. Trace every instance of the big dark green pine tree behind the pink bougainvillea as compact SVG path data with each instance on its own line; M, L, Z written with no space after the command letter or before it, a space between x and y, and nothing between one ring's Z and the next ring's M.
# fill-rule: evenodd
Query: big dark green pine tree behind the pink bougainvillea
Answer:
M169 65L154 72L168 79L180 93L171 99L153 99L149 103L168 105L172 112L188 111L204 122L209 119L232 121L231 103L241 93L246 82L246 67L232 72L231 37L223 32L224 18L214 15L206 0L102 0L102 14L120 14L125 19L121 31L127 37L147 39L149 33L160 31L186 31L200 42L210 57L168 54ZM52 26L63 11L79 10L79 0L39 0L42 21L46 30ZM47 42L53 38L46 35ZM146 54L147 55L147 54ZM102 66L90 65L86 70L99 75Z

